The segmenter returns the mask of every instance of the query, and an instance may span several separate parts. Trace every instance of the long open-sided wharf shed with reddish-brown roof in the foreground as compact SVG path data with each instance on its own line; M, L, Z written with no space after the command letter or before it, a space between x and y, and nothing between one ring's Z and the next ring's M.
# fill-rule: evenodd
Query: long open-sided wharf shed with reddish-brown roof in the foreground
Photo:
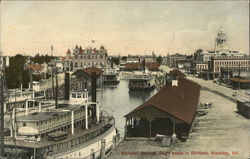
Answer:
M170 73L172 80L126 117L126 137L154 137L157 134L186 139L199 102L200 85Z

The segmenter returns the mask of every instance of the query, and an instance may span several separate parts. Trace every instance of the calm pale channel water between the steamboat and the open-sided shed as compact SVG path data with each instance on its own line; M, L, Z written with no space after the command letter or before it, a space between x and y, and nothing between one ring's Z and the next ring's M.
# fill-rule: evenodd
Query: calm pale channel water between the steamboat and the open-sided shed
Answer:
M121 80L117 86L103 87L97 90L97 101L100 102L103 110L114 115L116 127L124 136L125 118L124 115L132 111L144 101L157 92L156 89L150 92L129 92L128 81Z

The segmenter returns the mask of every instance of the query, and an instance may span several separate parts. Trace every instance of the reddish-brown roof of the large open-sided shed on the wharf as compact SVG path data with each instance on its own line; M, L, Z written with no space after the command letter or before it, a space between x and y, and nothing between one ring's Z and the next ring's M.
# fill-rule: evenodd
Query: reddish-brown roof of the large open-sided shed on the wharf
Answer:
M125 117L145 107L155 107L185 123L191 124L199 102L200 85L186 78L178 79L178 86L166 85L148 101L141 104Z

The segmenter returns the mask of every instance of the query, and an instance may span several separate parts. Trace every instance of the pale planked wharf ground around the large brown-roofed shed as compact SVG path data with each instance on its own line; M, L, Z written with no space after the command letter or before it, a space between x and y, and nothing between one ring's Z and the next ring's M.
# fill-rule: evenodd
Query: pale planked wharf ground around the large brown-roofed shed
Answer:
M108 159L250 158L250 123L237 113L235 103L245 91L237 91L237 97L233 97L235 90L213 81L187 78L206 87L201 90L201 102L213 102L213 106L206 109L206 115L195 117L187 141L161 147L161 142L148 138L126 138L110 152Z

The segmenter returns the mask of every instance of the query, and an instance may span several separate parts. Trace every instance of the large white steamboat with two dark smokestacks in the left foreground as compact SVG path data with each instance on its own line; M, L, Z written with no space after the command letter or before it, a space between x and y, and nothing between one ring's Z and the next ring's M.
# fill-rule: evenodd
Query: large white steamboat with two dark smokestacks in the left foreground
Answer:
M68 73L65 76L69 79ZM5 128L10 131L4 135L5 156L104 158L119 134L114 117L96 101L96 84L92 84L91 98L86 88L69 91L69 80L65 80L64 100L32 98L24 107L6 111Z

